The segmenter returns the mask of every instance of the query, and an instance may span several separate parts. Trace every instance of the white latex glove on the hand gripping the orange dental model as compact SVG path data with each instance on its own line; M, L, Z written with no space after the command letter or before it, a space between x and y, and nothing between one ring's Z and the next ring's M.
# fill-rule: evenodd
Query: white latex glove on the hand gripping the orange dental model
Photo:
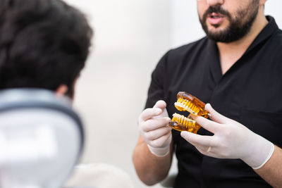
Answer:
M181 137L198 151L214 158L240 158L254 169L261 168L269 160L274 144L216 112L210 104L205 109L212 115L213 121L194 115L192 118L204 129L214 133L213 136L181 132Z

